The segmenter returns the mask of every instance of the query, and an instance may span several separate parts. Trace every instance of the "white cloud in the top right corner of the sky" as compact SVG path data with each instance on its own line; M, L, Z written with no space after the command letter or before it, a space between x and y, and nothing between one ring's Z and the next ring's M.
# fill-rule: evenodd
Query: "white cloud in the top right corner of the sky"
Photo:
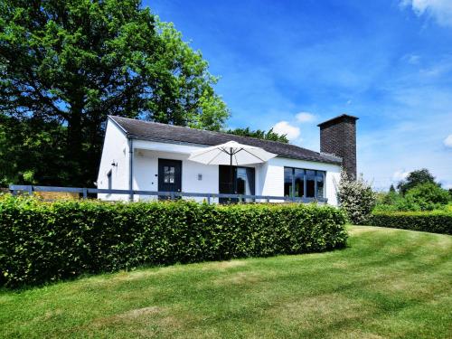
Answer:
M438 24L452 26L452 1L450 0L401 0L400 5L409 6L418 16L428 14Z

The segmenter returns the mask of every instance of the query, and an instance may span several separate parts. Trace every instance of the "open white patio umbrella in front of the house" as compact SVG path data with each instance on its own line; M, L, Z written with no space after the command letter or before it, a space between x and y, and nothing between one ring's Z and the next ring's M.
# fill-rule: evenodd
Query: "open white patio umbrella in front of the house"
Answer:
M265 163L277 155L267 152L265 149L239 144L235 141L202 148L193 151L188 160L204 165L230 165L230 186L232 184L232 165L250 165ZM232 190L231 190L232 191Z

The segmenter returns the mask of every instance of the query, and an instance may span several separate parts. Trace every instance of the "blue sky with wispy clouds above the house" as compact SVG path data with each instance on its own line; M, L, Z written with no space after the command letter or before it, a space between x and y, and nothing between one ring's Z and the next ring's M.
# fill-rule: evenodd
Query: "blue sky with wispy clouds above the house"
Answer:
M452 187L452 1L144 1L202 51L230 127L319 150L358 120L358 171L387 189L427 167Z

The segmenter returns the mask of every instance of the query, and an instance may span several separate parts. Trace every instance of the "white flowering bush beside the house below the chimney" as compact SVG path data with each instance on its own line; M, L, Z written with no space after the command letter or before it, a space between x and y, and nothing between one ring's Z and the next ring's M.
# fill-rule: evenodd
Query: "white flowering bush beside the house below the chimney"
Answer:
M371 184L363 179L363 174L351 180L342 170L341 181L336 183L336 189L339 205L347 213L350 222L363 225L370 220L377 194L372 191Z

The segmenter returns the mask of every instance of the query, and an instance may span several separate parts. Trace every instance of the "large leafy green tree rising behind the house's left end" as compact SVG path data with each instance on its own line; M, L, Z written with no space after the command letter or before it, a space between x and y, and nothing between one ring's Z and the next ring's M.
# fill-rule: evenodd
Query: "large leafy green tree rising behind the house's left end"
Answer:
M216 81L139 0L0 2L0 114L64 127L65 184L92 184L108 114L220 129Z

